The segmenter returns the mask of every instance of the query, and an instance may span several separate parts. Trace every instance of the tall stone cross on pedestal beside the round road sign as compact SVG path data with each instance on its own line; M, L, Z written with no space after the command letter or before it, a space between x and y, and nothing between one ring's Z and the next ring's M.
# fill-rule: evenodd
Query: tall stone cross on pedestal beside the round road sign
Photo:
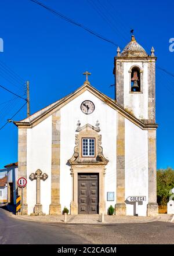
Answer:
M46 173L42 174L42 171L38 169L35 174L31 173L29 176L30 180L37 180L37 203L34 207L34 213L31 215L45 215L42 212L42 204L41 204L41 180L46 180L48 175Z

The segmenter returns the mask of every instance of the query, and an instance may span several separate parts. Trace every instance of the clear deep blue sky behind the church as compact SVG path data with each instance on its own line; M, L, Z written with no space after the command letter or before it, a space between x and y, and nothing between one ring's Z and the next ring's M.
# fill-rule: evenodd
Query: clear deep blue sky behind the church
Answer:
M157 65L173 70L174 52L169 38L174 37L172 0L42 0L45 5L70 17L89 29L124 47L130 41L130 30L150 53L152 46ZM31 113L44 108L81 86L89 70L90 82L114 98L113 61L116 49L80 27L67 23L30 0L1 1L0 84L23 95L24 81L30 80ZM5 63L19 76L13 76ZM157 69L157 168L174 168L173 100L174 77ZM0 126L24 104L23 99L0 88ZM6 102L6 103L4 103ZM14 120L26 117L26 108ZM0 130L0 168L17 161L17 127L9 123Z

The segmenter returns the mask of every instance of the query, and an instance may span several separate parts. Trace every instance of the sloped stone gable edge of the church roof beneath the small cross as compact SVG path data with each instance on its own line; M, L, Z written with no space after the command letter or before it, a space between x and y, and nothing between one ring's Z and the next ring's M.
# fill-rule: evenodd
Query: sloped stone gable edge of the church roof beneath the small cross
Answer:
M111 108L116 109L119 113L121 113L127 119L131 120L131 122L135 123L137 126L142 128L143 130L156 129L158 127L157 124L143 123L142 120L137 119L130 112L126 111L124 108L119 106L114 99L111 99L107 95L101 93L99 90L91 86L89 83L84 83L81 87L79 87L73 93L68 94L66 97L59 99L59 101L56 101L53 104L50 104L49 106L46 106L46 108L43 108L38 112L35 112L31 116L28 116L28 118L25 118L20 121L15 121L13 123L17 127L22 127L22 128L34 127L35 125L37 125L38 122L41 122L48 116L52 115L52 113L55 112L57 109L60 109L62 106L66 105L68 102L78 97L78 95L81 95L86 90L94 94L97 98L102 100L105 104L109 105Z

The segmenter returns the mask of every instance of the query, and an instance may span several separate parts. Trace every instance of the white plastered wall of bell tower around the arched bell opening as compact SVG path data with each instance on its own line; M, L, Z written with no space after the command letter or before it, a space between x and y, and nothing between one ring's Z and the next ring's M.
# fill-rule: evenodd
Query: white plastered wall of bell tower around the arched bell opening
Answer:
M132 66L143 69L143 93L130 93L130 73ZM148 63L124 62L124 105L136 118L148 119Z

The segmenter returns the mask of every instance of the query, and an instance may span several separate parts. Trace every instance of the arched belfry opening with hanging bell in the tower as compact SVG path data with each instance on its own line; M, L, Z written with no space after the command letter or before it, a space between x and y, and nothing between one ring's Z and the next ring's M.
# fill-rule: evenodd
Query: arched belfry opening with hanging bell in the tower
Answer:
M131 91L140 92L141 91L141 72L139 67L133 67L131 70Z

